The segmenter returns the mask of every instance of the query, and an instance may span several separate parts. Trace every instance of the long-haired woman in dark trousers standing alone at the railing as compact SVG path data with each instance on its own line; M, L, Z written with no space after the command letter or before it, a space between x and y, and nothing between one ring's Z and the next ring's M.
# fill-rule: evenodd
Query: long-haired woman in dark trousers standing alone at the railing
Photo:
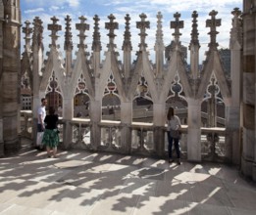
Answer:
M173 159L173 142L177 152L178 164L180 164L180 150L179 150L179 129L181 127L179 116L175 115L175 109L169 108L167 113L167 135L168 135L168 155L169 162L174 162Z

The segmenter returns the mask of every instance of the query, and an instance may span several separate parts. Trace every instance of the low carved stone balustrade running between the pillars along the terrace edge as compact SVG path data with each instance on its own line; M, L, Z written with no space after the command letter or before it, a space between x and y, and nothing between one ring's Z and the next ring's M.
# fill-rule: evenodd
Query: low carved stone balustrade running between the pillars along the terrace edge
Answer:
M21 136L32 139L32 114L28 110L21 111ZM122 128L130 128L130 145L122 145ZM63 120L60 118L58 128L60 130L60 148L77 149L86 151L109 151L122 154L144 155L144 156L167 156L168 140L165 127L155 127L152 123L132 122L124 125L120 121L102 120L99 123L101 128L100 144L94 146L91 140L91 122L89 119L73 118ZM70 130L68 130L71 129ZM163 132L163 141L154 142L154 132L160 129ZM66 143L65 133L72 135L72 142ZM181 138L179 140L182 158L187 157L187 126L181 127ZM202 160L225 162L226 137L225 128L201 128L201 155ZM174 153L175 154L175 153Z

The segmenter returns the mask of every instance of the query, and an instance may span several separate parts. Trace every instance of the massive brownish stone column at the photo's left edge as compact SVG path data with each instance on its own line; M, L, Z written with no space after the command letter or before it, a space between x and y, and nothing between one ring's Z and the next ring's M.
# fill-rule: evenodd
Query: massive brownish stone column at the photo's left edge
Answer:
M2 114L4 153L11 154L21 148L18 137L19 74L21 73L21 16L20 1L4 3L3 62L2 62Z

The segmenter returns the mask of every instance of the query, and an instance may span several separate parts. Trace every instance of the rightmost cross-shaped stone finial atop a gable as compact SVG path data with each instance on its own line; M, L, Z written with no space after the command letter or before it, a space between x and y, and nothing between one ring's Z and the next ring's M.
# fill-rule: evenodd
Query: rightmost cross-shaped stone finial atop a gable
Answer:
M206 26L210 27L210 32L208 34L210 34L211 36L211 42L209 43L209 47L210 49L213 50L217 50L217 47L219 46L219 44L216 42L216 35L219 33L216 28L217 26L221 26L222 20L221 19L216 19L216 15L218 14L217 11L211 11L209 13L209 16L211 16L211 20L207 20L206 21Z

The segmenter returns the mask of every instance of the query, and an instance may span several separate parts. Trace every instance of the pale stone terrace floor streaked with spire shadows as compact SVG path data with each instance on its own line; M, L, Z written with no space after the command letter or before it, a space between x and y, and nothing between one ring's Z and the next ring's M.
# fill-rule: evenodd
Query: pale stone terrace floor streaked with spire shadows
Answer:
M256 185L235 167L23 148L0 158L0 214L256 214Z

